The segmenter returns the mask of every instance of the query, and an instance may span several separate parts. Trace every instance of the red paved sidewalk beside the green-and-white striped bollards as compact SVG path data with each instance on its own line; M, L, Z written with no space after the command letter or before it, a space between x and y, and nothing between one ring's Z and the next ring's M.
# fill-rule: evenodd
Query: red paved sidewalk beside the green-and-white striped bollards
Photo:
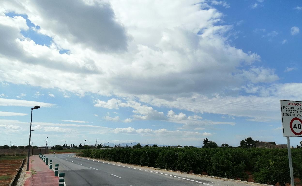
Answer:
M31 171L31 169L34 171ZM59 177L55 177L54 171L49 169L48 165L45 165L45 162L39 158L39 155L30 156L28 170L26 174L31 175L33 173L33 175L25 180L24 186L53 186L59 184Z

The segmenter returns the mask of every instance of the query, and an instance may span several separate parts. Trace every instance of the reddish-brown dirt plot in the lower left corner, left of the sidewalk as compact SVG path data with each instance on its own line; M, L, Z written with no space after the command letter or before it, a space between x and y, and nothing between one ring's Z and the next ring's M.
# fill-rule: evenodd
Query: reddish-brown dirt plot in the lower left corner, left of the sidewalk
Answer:
M22 159L0 160L0 185L7 186L11 183L21 165Z

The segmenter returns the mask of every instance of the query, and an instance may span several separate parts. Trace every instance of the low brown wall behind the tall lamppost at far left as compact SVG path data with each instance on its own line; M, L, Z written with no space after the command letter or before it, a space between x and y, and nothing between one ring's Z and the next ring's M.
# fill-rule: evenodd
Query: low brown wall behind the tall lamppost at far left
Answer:
M41 154L48 154L49 149L32 149L30 150L30 154L31 155L37 155L39 153ZM28 154L28 149L0 149L0 154L4 154L4 155L12 155L12 156L16 156L16 155L27 155Z

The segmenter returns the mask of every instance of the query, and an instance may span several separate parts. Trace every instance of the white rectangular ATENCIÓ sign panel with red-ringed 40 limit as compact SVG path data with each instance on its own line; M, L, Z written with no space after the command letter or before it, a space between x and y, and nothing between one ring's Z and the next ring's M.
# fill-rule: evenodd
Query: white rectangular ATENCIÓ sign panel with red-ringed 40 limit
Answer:
M302 137L302 102L280 100L283 135Z

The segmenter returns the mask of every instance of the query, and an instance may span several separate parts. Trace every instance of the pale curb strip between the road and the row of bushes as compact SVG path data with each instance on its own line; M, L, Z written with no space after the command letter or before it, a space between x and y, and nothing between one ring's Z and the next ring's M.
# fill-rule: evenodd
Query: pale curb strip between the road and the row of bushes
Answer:
M72 156L72 157L78 158L77 156ZM102 159L94 159L94 158L88 158L88 157L83 157L83 156L80 156L80 157L83 158L83 159L102 160ZM108 160L102 160L102 161L108 161ZM108 162L114 162L114 161L108 161ZM122 163L122 162L116 162L116 163ZM122 163L122 164L145 167L145 168L151 168L151 169L168 171L168 172L178 172L178 173L183 173L183 174L191 174L191 175L197 175L197 176L200 176L200 177L215 178L215 179L220 179L220 180L236 181L236 182L241 182L241 183L246 183L246 184L261 185L261 186L272 186L272 185L262 184L262 183L234 180L234 179L229 179L229 178L220 178L220 177L216 177L216 176L208 176L208 175L203 175L203 174L194 174L194 173L189 173L189 172L173 171L173 170L168 170L168 169L159 169L159 168L156 168L156 167L141 166L141 165L135 165L135 164L130 164L130 163Z

